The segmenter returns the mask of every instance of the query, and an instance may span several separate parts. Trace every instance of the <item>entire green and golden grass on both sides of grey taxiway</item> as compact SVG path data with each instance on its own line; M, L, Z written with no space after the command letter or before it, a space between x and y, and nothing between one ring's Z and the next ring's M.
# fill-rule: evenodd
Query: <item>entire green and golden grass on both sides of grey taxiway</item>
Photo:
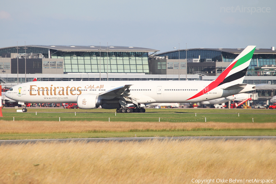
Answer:
M276 135L276 110L270 109L147 109L148 113L116 116L114 110L106 109L14 111L3 109L2 140ZM275 181L275 150L272 140L1 144L0 183Z

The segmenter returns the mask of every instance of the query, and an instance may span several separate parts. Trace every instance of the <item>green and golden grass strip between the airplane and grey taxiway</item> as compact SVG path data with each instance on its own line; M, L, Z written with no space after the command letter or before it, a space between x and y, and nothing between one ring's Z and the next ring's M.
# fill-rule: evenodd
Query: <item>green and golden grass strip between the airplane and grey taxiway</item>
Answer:
M147 109L148 113L116 114L113 109L14 111L3 109L0 139L276 135L276 111L270 109Z

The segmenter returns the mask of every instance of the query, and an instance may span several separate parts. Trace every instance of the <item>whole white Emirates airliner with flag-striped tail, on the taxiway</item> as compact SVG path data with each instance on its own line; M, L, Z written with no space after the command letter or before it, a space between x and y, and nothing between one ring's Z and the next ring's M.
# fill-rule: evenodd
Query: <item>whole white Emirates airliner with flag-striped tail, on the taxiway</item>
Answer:
M81 109L145 112L141 104L197 103L255 90L243 79L256 46L247 46L213 81L35 81L18 84L6 97L26 103L77 103ZM134 104L135 109L127 108Z

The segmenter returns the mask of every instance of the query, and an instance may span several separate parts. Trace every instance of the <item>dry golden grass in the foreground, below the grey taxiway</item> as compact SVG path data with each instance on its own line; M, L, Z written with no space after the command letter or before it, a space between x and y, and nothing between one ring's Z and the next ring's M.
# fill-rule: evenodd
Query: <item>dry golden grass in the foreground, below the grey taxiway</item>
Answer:
M276 179L276 142L146 141L0 146L0 183L192 183Z

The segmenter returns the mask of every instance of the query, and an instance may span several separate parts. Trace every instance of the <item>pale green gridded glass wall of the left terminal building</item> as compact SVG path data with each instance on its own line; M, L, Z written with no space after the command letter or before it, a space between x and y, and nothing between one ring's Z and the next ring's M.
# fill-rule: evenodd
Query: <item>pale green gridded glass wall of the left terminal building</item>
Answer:
M51 58L64 59L65 73L149 73L148 52L53 54Z

